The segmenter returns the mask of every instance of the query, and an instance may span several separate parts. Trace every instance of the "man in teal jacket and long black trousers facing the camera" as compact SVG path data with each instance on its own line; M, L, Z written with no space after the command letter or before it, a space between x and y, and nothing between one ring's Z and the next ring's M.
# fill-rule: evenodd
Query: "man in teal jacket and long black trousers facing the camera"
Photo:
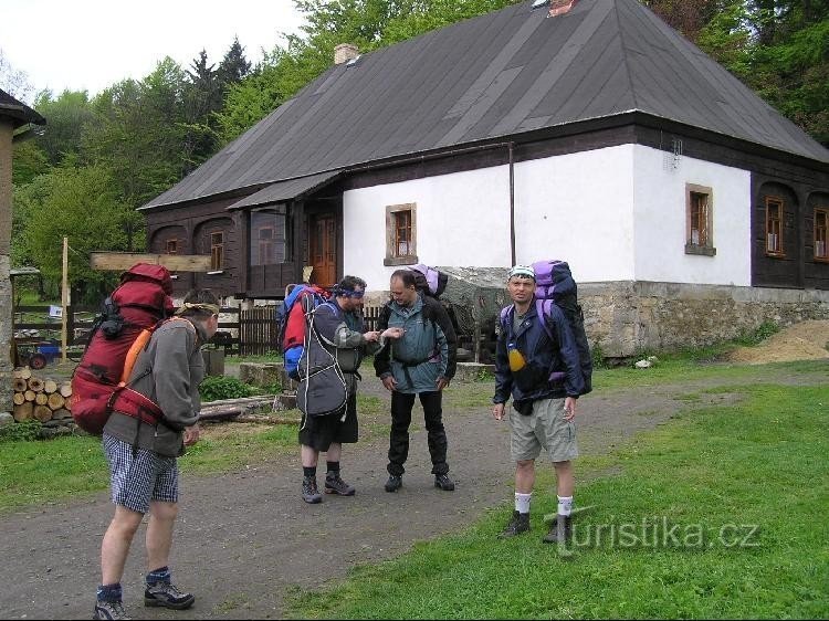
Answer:
M375 356L377 377L391 391L386 491L397 492L402 486L411 410L417 396L423 407L434 486L451 492L454 482L448 474L442 391L454 377L458 339L441 303L418 292L412 271L393 272L389 288L391 302L384 307L377 327L379 330L398 327L402 335Z

